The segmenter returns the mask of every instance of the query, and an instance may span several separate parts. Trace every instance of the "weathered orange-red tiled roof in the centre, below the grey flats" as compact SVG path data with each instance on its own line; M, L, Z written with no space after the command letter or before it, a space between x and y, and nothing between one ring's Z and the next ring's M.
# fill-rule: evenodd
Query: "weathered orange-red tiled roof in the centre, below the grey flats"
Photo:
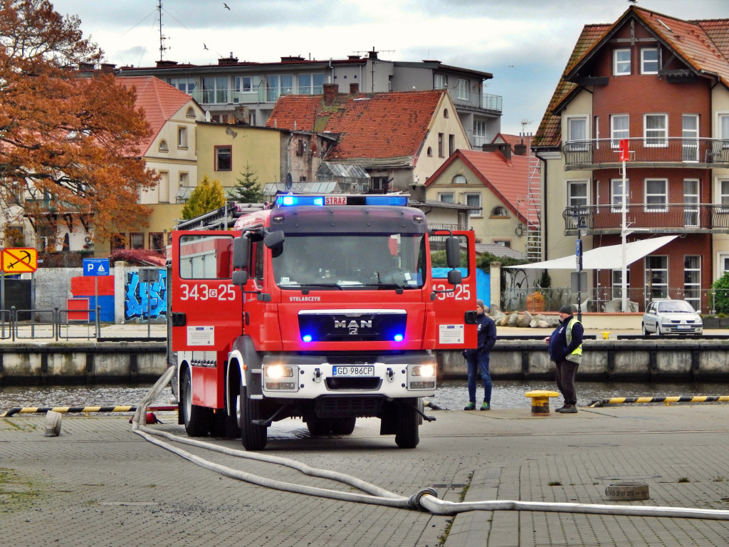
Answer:
M267 127L339 133L327 159L403 158L418 155L445 90L278 98Z

